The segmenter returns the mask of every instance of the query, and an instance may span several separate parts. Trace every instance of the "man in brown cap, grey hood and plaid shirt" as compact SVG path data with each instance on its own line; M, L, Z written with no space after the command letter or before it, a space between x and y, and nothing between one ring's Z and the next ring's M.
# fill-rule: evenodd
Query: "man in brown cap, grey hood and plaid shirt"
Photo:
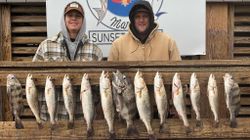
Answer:
M102 51L87 39L84 10L78 2L70 2L64 9L61 20L61 32L44 40L38 47L33 62L64 62L64 61L100 61ZM56 120L67 119L67 111L63 104L62 93L56 90ZM82 114L79 94L75 94L75 114ZM49 114L44 94L39 97L41 118L48 120ZM82 116L82 115L80 115Z

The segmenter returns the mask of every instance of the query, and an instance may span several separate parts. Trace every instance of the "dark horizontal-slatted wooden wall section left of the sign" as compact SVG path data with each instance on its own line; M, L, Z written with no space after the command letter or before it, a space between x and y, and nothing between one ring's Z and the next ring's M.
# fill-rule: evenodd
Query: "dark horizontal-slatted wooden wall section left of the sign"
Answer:
M12 59L31 61L47 36L45 3L11 5Z

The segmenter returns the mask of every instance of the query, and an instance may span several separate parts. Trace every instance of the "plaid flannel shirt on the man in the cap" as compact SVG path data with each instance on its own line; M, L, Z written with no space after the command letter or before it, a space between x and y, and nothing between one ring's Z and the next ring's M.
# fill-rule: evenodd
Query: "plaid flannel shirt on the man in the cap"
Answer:
M33 58L33 62L52 62L52 61L100 61L102 60L102 51L95 44L89 43L87 36L83 38L83 43L79 43L77 46L77 52L74 56L74 60L70 60L69 53L67 50L67 45L64 42L62 33L59 33L57 36L54 36L50 39L43 41ZM55 118L56 120L68 119L68 113L64 106L62 88L56 88L56 111ZM79 91L74 94L75 101L75 119L81 119L83 117L82 107L80 102L80 90L74 87L74 91ZM40 105L40 116L41 119L47 121L49 120L48 109L46 105L46 100L44 96L44 89L39 89L39 105Z

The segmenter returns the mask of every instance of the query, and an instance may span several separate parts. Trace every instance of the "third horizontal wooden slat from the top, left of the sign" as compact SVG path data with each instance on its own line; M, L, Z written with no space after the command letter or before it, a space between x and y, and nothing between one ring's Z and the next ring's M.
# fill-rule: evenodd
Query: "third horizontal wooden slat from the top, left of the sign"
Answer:
M46 26L21 26L12 27L12 33L46 33Z

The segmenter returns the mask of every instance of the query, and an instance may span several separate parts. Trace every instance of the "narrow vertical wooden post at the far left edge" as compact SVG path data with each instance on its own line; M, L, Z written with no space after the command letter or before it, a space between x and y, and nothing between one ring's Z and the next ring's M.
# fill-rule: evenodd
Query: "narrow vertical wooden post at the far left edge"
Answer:
M4 22L2 22L4 21ZM11 61L11 21L10 21L10 5L2 5L2 55L3 60Z

